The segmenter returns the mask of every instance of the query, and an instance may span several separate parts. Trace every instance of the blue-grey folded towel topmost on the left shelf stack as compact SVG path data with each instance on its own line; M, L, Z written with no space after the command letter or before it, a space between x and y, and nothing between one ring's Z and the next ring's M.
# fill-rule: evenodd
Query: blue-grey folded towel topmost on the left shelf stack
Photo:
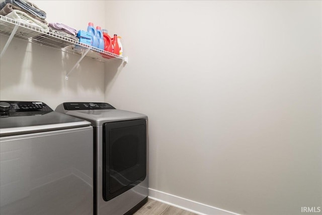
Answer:
M30 14L35 15L41 19L46 19L46 12L40 10L35 4L28 2L27 0L5 0L0 3L0 10L3 9L7 4L18 6Z

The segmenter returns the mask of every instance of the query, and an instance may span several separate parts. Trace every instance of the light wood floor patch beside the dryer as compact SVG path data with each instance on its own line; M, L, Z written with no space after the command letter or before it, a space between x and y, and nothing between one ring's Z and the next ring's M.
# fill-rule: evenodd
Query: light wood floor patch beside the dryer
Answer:
M195 213L183 210L159 201L148 199L147 202L133 215L196 215Z

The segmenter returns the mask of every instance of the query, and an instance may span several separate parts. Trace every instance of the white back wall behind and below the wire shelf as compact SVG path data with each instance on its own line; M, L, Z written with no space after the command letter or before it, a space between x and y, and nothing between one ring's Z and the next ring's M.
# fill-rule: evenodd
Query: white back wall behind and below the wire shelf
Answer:
M31 1L47 13L48 22L86 30L104 26L103 1ZM86 15L86 16L85 16ZM0 37L1 50L8 36ZM104 63L85 58L65 75L80 56L13 39L0 62L0 99L42 101L52 109L66 101L104 101Z

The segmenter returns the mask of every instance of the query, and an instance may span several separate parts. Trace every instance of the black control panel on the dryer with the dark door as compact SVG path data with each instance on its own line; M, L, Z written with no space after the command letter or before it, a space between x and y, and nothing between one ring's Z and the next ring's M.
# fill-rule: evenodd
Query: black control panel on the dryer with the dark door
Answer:
M115 109L112 105L102 102L65 102L65 110L108 110Z

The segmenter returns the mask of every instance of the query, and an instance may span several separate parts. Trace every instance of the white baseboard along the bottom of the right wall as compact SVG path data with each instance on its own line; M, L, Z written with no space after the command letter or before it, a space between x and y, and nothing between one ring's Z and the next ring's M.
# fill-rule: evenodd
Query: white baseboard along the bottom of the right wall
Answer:
M149 188L149 198L160 201L193 213L197 213L200 215L211 214L211 215L240 215L238 213L234 213L228 210L220 209L217 207L213 207L207 204L203 204L200 202L192 201L186 198L182 198L179 196L175 196L169 193L165 193L162 191L154 190Z

